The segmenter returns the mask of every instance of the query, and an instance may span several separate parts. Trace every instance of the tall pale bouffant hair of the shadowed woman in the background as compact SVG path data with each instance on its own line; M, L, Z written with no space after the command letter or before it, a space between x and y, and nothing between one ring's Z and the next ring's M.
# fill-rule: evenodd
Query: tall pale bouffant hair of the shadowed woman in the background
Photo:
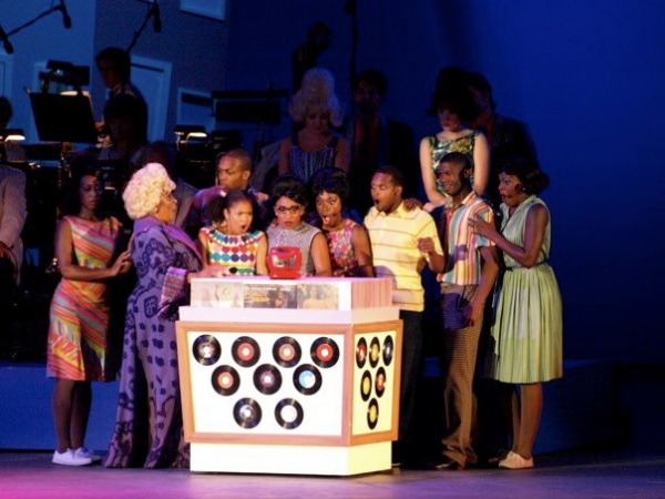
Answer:
M330 113L330 124L340 126L344 108L335 95L335 78L324 68L314 68L305 73L300 90L288 104L288 113L296 123L304 123L308 108L320 108Z

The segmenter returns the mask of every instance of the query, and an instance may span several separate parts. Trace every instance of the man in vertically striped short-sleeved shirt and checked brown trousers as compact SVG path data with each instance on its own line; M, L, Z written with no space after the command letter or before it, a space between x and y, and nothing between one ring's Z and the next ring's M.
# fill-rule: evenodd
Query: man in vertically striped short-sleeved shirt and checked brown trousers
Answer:
M437 174L451 200L441 215L446 268L441 282L443 346L443 448L437 469L463 469L478 458L471 448L473 373L483 307L499 273L494 243L475 234L469 221L493 222L492 208L471 189L473 165L467 154L452 152Z

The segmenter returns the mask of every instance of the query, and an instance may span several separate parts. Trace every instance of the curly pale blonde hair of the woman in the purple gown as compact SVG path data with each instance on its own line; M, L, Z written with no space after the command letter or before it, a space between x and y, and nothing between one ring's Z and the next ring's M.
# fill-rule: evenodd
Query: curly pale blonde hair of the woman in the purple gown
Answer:
M127 215L137 220L155 213L164 196L174 189L175 183L164 166L160 163L147 163L132 175L122 193Z

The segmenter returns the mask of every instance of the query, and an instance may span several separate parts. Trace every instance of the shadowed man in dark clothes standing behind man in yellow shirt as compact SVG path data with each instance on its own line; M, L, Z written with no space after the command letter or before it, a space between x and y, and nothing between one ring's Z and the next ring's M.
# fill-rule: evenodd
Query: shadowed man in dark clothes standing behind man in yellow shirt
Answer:
M352 79L355 115L346 136L351 144L349 184L358 216L372 206L367 186L375 171L386 164L397 165L405 176L403 197L418 195L420 170L413 130L382 111L388 91L386 75L366 70Z

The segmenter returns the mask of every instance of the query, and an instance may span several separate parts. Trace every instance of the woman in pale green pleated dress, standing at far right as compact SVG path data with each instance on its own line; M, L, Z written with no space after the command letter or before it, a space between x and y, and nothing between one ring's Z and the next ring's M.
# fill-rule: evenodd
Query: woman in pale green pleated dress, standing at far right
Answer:
M536 196L548 176L533 161L513 160L499 174L501 233L481 220L472 228L503 252L505 273L499 291L489 377L516 384L520 400L512 406L511 451L500 468L533 467L532 448L543 407L542 383L563 375L561 294L548 263L550 212ZM519 409L518 409L519 407Z

